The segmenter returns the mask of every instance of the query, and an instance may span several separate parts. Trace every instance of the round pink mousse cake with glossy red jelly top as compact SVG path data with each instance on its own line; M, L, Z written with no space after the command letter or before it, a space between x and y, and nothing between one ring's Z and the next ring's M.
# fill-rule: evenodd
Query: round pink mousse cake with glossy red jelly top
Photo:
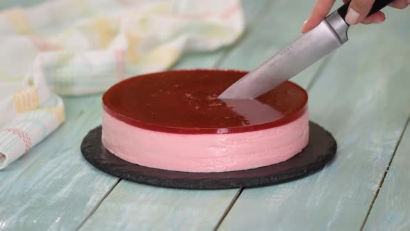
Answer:
M133 164L183 172L290 159L309 141L306 91L286 81L256 99L218 99L245 74L175 70L121 81L103 96L102 143Z

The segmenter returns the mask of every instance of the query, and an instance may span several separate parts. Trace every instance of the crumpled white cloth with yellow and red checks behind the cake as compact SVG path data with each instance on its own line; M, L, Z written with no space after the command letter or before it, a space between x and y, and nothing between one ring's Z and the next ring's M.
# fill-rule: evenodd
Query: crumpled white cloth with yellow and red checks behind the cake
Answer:
M233 43L239 0L55 0L0 13L0 169L64 120L58 95L106 90Z

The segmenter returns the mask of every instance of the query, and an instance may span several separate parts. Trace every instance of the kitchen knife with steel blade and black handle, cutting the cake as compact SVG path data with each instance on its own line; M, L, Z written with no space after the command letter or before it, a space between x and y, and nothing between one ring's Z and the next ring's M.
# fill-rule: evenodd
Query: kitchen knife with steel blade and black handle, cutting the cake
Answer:
M368 16L381 10L392 1L376 0ZM345 22L345 16L349 5L350 1L260 67L233 83L218 98L254 99L259 97L343 45L348 40L347 29L350 25Z

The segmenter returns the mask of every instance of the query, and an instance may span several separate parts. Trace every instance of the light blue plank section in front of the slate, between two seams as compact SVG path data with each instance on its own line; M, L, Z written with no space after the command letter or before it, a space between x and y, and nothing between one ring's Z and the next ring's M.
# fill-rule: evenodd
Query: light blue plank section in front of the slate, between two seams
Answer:
M81 230L212 230L235 193L122 180Z

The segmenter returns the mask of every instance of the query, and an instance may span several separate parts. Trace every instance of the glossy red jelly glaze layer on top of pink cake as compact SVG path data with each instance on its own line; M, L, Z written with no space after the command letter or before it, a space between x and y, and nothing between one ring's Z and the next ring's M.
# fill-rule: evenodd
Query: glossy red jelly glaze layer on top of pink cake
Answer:
M247 72L174 70L115 84L103 96L110 116L129 125L176 134L250 132L293 122L307 108L306 91L286 81L255 100L218 95Z

